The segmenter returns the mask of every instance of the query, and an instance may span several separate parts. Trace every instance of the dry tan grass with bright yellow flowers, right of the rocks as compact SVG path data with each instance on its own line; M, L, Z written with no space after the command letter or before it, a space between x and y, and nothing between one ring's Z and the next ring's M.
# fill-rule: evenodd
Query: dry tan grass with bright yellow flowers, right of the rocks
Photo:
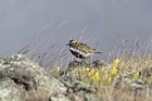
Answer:
M60 75L61 72L62 67L58 66L55 73ZM101 101L152 100L152 89L150 88L152 86L151 53L138 56L125 54L115 58L112 63L98 67L78 65L71 68L71 74L80 81L96 87Z

